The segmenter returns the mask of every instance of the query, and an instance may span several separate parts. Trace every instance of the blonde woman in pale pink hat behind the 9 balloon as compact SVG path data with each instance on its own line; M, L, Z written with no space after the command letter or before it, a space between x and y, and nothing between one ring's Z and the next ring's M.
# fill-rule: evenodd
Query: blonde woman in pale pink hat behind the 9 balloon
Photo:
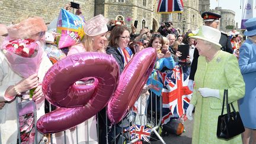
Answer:
M105 53L105 42L107 38L107 20L103 15L97 15L91 18L84 25L85 37L82 43L76 44L69 49L68 56L76 53L83 52L102 52ZM66 130L66 142L67 143L98 143L97 137L97 121L96 116L91 117L84 123L78 124L77 128ZM76 129L78 130L78 136L76 135ZM63 143L63 132L56 133L56 142ZM78 137L78 142L76 142Z

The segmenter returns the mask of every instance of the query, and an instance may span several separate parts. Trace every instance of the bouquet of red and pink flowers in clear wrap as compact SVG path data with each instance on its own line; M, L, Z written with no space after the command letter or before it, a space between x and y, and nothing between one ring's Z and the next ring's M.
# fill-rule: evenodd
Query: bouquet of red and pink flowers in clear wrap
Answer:
M2 52L7 57L12 71L18 73L23 78L38 72L43 49L40 41L33 39L5 39L2 45ZM30 89L30 100L35 88Z

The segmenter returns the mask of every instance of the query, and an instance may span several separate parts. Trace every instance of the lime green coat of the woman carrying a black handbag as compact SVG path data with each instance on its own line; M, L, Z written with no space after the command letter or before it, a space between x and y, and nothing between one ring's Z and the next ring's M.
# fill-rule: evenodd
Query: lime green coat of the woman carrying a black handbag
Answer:
M203 98L198 91L199 88L219 89L220 99L215 97ZM195 88L190 101L190 104L196 106L193 144L242 143L241 135L229 141L218 139L216 136L217 118L222 110L224 89L228 89L229 103L234 102L235 110L238 111L237 100L244 97L245 83L236 57L220 50L208 63L204 56L200 56L195 75Z

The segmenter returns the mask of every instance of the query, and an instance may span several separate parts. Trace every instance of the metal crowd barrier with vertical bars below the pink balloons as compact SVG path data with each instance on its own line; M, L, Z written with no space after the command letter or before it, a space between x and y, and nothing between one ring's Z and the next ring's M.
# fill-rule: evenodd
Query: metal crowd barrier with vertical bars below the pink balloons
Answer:
M161 141L162 143L165 143L164 140L162 139L162 137L159 135L159 133L157 132L157 129L161 126L161 120L162 120L162 96L159 97L159 113L158 113L158 100L157 100L157 97L155 97L155 113L153 113L153 98L152 98L152 92L151 92L151 95L149 96L149 100L151 101L148 101L147 99L145 99L145 103L146 104L146 126L150 126L152 128L151 130L151 134L152 133L155 133L155 135L158 137L159 141ZM140 111L141 108L142 108L142 97L139 97L140 98ZM19 111L18 111L18 98L16 98L16 104L17 104L17 127L18 127L18 143L20 144L21 143L21 136L20 136L20 125L19 125L19 122L18 122L18 118L19 118ZM151 104L151 107L148 108L148 105ZM148 113L148 110L151 111L151 113ZM52 111L52 106L49 104L49 111ZM139 113L137 113L139 114ZM158 114L159 114L159 117L158 117ZM106 115L107 116L107 115ZM131 113L128 114L128 117L131 117ZM35 119L35 123L34 123L34 127L36 129L36 106L34 105L34 119ZM97 114L97 121L98 121L98 114ZM105 130L107 132L106 134L106 140L108 139L108 132L110 130L110 127L108 127L108 124L107 124L107 117L105 117ZM122 120L123 122L123 120ZM140 123L142 123L142 117L140 117ZM135 117L133 117L133 122L130 124L129 123L129 127L132 126L133 124L136 124L136 120L135 120ZM113 125L114 126L114 144L119 144L117 143L117 135L116 135L116 125ZM121 127L123 127L123 125L121 125ZM35 133L35 140L34 140L34 143L53 143L53 134L50 133L50 134L47 134L47 135L44 135L43 137L41 137L40 141L38 142L37 139L38 139L38 135L37 135L37 129L36 129L36 133ZM99 134L99 127L98 127L98 124L97 124L97 135ZM126 139L124 139L124 132L122 130L121 132L121 143L124 143L124 141L126 141L126 143L135 143L137 141L139 141L140 139L136 138L136 139L130 139L130 132L128 133L129 134L129 139L126 141ZM63 141L62 143L67 143L67 140L66 140L66 131L63 131ZM98 137L98 140L100 140L100 137L99 135L97 136ZM78 143L78 129L77 129L77 126L76 126L76 137L72 137L73 139L76 139L76 143ZM152 138L152 137L151 137ZM87 140L89 141L89 128L88 128L88 124L87 124ZM89 142L87 142L89 143ZM1 143L1 133L0 133L0 144Z

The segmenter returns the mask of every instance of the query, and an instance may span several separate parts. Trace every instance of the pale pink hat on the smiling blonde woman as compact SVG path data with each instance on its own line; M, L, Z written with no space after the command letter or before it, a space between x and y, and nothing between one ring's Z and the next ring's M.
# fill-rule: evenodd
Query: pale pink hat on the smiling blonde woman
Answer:
M97 15L87 21L84 25L84 32L88 36L97 36L108 31L108 20L103 15Z

